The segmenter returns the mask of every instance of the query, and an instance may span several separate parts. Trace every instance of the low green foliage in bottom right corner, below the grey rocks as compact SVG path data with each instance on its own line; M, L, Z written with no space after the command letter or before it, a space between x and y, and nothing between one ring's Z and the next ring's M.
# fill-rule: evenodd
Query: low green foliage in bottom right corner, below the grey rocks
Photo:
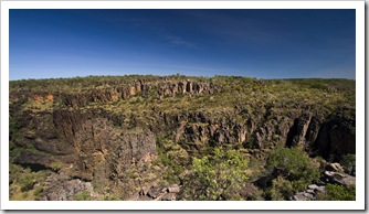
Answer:
M325 192L318 194L319 201L355 201L356 186L345 188L338 184L327 184Z

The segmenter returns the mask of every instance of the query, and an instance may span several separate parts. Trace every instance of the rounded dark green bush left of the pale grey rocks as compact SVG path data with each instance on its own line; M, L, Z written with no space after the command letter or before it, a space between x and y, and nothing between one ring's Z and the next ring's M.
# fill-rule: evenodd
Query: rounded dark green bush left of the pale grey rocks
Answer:
M319 176L318 169L314 167L312 159L299 148L276 148L271 152L266 165L271 174L275 172L278 174L278 178L273 181L272 189L275 189L276 193L281 192L284 199L286 199L287 193L306 189L308 184L316 181ZM286 185L285 180L291 182L288 185L292 185L293 192L281 189L281 186Z

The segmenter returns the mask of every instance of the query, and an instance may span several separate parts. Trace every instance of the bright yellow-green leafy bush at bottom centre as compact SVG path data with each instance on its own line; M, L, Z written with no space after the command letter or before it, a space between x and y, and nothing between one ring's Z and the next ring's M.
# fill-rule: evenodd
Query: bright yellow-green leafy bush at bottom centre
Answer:
M191 200L244 200L240 191L247 180L247 161L240 151L214 149L211 158L193 158L184 197Z

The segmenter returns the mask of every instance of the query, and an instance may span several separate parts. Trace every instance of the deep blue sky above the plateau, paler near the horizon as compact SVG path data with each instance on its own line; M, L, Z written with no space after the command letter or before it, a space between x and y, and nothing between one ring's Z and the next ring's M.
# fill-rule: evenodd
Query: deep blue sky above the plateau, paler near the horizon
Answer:
M321 9L11 9L9 75L355 79L355 17Z

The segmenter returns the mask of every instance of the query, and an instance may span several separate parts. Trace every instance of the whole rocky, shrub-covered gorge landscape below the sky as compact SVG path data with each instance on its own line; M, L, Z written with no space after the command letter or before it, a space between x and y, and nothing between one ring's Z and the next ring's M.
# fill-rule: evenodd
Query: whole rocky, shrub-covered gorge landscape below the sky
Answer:
M9 105L11 200L293 200L355 181L355 81L30 79Z

